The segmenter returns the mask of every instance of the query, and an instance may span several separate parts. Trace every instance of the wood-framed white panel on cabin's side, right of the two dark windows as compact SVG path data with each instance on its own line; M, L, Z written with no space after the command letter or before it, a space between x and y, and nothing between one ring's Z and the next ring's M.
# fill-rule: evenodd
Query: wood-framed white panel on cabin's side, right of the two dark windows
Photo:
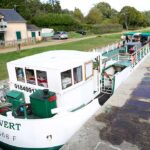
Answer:
M85 63L85 79L89 79L93 75L92 61Z

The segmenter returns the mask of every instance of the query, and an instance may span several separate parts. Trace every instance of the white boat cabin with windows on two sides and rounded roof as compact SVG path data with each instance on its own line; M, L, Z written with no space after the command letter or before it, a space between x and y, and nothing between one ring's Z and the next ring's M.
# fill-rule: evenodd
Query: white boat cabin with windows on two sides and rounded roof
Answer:
M7 63L10 89L29 95L36 89L56 93L57 108L74 110L100 93L100 53L43 52Z

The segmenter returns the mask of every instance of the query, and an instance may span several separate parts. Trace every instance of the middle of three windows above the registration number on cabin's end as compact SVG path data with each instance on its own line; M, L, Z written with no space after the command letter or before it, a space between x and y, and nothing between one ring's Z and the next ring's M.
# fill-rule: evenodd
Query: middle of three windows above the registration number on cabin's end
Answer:
M32 70L32 69L25 69L25 72L26 72L27 83L35 85L34 70Z

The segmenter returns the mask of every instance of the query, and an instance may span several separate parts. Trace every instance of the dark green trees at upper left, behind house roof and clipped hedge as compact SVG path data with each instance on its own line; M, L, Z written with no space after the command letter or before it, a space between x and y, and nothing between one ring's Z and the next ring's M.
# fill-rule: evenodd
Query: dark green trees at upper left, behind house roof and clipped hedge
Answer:
M0 8L14 8L28 22L32 17L50 12L61 12L61 6L58 0L49 0L41 3L40 0L1 0Z

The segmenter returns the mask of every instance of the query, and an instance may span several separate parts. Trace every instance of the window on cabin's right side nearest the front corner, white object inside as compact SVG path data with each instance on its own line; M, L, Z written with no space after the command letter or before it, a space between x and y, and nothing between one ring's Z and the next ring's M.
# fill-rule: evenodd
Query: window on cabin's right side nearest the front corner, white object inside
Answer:
M66 89L72 85L71 70L61 73L62 89Z

